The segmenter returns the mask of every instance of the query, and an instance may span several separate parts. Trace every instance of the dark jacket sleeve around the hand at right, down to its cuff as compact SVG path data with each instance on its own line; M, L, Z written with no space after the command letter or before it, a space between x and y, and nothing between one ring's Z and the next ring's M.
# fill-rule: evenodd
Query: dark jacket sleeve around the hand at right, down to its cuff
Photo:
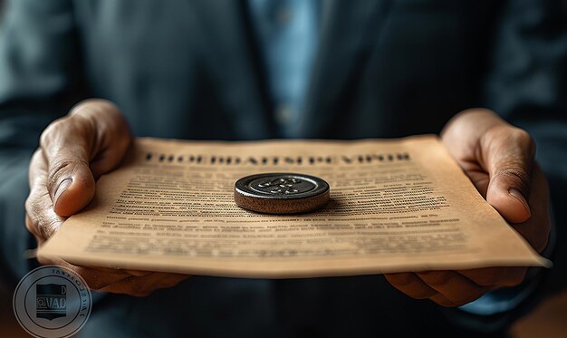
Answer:
M533 306L567 286L567 255L556 242L566 237L567 202L567 2L507 1L495 24L487 60L485 106L527 130L536 142L536 158L550 181L552 232L542 255L551 270L531 268L524 284L485 295L447 311L456 322L485 331L502 330ZM553 208L554 206L554 208Z

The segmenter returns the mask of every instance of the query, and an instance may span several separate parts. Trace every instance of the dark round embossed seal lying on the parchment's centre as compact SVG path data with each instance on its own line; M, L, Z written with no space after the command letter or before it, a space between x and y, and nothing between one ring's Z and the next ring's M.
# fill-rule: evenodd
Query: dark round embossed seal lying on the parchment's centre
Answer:
M236 205L266 214L313 211L324 207L329 197L327 182L304 174L257 174L235 183Z

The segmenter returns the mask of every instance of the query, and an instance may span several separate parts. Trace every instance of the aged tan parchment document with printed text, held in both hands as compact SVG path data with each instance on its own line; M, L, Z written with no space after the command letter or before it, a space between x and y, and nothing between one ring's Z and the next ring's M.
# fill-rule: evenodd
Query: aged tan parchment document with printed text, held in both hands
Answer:
M296 172L329 182L303 215L238 208L235 180ZM138 139L124 165L40 248L82 266L305 277L547 266L476 192L435 136L251 142Z

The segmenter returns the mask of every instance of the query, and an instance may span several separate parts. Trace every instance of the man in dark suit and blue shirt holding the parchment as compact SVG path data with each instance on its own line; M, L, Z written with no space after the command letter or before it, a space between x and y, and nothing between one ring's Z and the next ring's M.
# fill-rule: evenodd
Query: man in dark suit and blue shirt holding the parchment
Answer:
M14 213L28 163L25 225L41 245L89 203L131 135L440 132L479 192L547 255L548 189L533 138L550 179L564 184L567 169L553 163L567 144L564 15L559 1L14 1L0 40L1 172L11 178L0 195L3 275L17 281L29 266L15 257L35 246ZM106 292L87 335L497 332L528 308L543 275L267 281L71 267Z

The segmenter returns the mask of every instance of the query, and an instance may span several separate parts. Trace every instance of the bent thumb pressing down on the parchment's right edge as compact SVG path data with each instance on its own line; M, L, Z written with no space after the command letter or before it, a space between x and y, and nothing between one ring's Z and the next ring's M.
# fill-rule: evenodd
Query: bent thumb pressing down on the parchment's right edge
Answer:
M480 174L473 182L506 220L519 223L530 217L526 201L535 146L524 130L514 128L493 111L473 109L451 119L441 137L467 175L489 174L487 187Z

